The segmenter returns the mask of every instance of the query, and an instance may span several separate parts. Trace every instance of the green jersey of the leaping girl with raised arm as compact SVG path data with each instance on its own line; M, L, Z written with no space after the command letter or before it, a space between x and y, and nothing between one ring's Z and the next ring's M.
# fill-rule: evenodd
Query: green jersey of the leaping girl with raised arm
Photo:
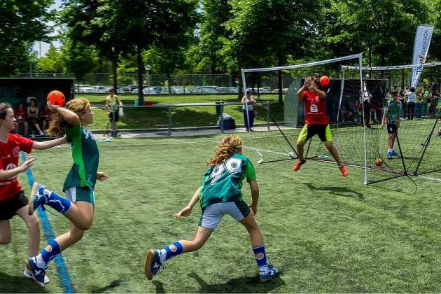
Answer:
M99 151L93 134L81 125L66 125L64 132L72 149L73 165L64 180L63 191L70 187L94 189L97 182Z

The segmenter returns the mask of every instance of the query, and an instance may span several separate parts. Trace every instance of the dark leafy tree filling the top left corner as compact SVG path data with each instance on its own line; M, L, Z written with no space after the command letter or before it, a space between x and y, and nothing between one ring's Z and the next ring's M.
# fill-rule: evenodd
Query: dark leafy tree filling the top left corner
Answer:
M34 41L48 41L52 0L0 2L0 73L10 76L29 65ZM31 28L31 29L30 29Z

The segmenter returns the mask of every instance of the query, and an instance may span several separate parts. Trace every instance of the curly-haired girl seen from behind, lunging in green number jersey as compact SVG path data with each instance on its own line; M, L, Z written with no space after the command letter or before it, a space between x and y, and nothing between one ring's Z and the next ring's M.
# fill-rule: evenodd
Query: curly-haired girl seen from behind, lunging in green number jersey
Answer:
M262 233L255 222L259 188L251 161L242 155L242 144L240 137L235 134L224 137L218 144L214 156L207 162L207 172L204 174L202 186L196 190L188 205L174 214L175 218L190 216L193 207L200 200L202 216L193 239L175 241L161 250L149 250L145 265L147 279L153 279L169 258L181 253L197 251L204 246L225 214L235 218L248 231L258 264L260 281L269 281L279 273L267 263ZM242 200L241 193L242 180L245 178L250 185L253 199L249 207Z

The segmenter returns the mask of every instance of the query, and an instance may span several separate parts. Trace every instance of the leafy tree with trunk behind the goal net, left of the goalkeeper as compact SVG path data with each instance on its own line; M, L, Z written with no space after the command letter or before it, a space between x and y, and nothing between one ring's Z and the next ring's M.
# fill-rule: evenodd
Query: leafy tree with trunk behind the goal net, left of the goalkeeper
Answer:
M311 31L316 1L231 0L230 3L234 17L225 22L225 27L231 31L231 38L224 39L223 48L230 71L280 66L286 64L288 54L302 52ZM282 102L281 91L279 102Z

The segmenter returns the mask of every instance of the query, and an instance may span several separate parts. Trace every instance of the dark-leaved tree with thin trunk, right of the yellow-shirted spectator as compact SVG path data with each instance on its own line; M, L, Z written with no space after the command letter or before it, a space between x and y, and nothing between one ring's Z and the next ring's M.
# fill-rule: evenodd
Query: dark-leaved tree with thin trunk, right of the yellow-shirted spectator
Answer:
M144 103L142 54L155 46L171 51L188 42L197 20L197 0L113 1L118 31L124 36L125 52L137 56L139 104Z

